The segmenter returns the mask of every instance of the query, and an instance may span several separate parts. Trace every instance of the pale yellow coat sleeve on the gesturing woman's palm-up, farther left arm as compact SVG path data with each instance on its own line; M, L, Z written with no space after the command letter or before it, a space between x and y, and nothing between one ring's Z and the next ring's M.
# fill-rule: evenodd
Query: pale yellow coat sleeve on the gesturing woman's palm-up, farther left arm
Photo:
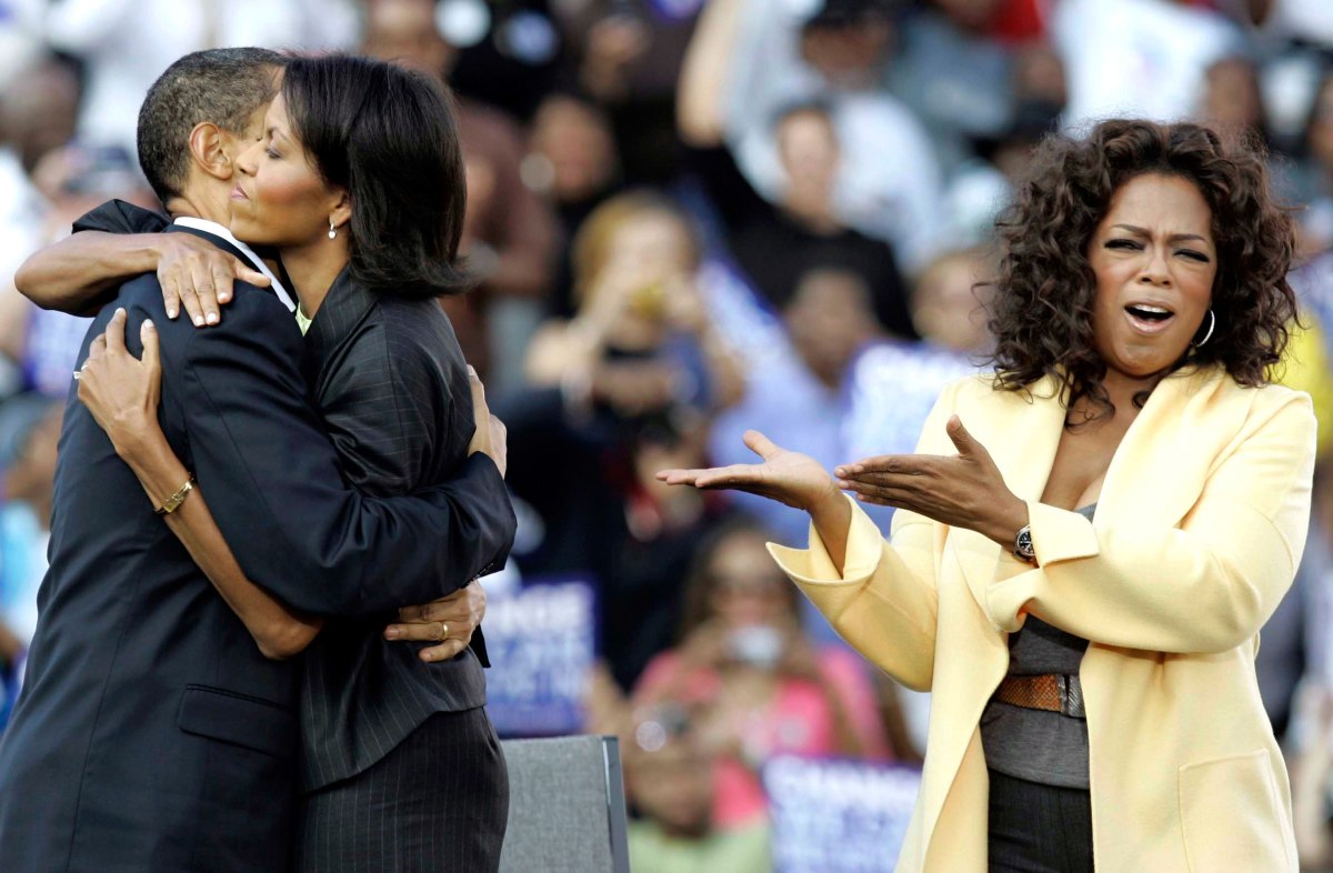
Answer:
M954 392L956 387L949 387L936 401L917 452L949 450L941 441L948 440L944 423L953 412ZM929 690L934 672L940 533L940 525L925 516L898 509L885 541L853 501L841 573L813 524L809 549L769 544L768 550L857 652L908 688Z

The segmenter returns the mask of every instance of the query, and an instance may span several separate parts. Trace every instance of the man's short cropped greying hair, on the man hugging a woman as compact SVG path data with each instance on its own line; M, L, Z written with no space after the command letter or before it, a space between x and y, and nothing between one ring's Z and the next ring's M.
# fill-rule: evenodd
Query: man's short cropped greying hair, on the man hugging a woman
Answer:
M267 48L191 52L167 68L139 108L139 165L157 199L180 196L189 177L189 132L211 121L243 133L273 99L273 71L287 57Z

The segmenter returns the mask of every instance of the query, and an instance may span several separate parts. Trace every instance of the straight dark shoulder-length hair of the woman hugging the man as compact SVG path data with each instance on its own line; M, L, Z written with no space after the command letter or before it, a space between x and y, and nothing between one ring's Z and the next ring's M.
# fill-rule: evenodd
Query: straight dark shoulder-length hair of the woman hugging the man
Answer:
M352 277L400 297L467 291L467 181L444 84L368 57L296 57L283 99L315 169L352 201Z

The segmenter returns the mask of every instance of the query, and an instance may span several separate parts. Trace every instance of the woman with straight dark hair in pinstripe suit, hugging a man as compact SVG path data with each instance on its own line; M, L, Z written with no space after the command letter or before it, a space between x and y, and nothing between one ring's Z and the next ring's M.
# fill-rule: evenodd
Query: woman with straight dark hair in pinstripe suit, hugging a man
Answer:
M369 494L409 493L448 478L479 446L503 473L503 425L487 416L492 429L475 435L480 383L435 300L467 288L463 160L444 89L380 61L293 59L263 140L237 164L232 232L281 255L341 473ZM140 395L156 376L121 371L121 381L143 383ZM99 416L124 431L117 446L160 440L155 416L119 412ZM223 542L216 529L211 538ZM243 620L285 622L293 648L311 644L297 868L496 869L508 778L483 709L480 634L424 666L424 645L384 638L392 617L331 620L315 637L319 620L291 616L243 577L215 584ZM449 633L436 624L435 641ZM412 638L421 626L396 628Z

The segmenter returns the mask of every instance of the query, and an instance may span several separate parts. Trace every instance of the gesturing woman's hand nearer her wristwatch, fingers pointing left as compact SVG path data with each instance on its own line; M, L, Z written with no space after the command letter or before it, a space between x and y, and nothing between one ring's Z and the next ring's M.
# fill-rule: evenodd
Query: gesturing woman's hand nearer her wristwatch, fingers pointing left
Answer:
M1028 506L1005 485L1000 468L958 416L945 425L958 453L880 454L834 470L837 486L856 498L906 509L954 528L1012 544L1028 524Z

